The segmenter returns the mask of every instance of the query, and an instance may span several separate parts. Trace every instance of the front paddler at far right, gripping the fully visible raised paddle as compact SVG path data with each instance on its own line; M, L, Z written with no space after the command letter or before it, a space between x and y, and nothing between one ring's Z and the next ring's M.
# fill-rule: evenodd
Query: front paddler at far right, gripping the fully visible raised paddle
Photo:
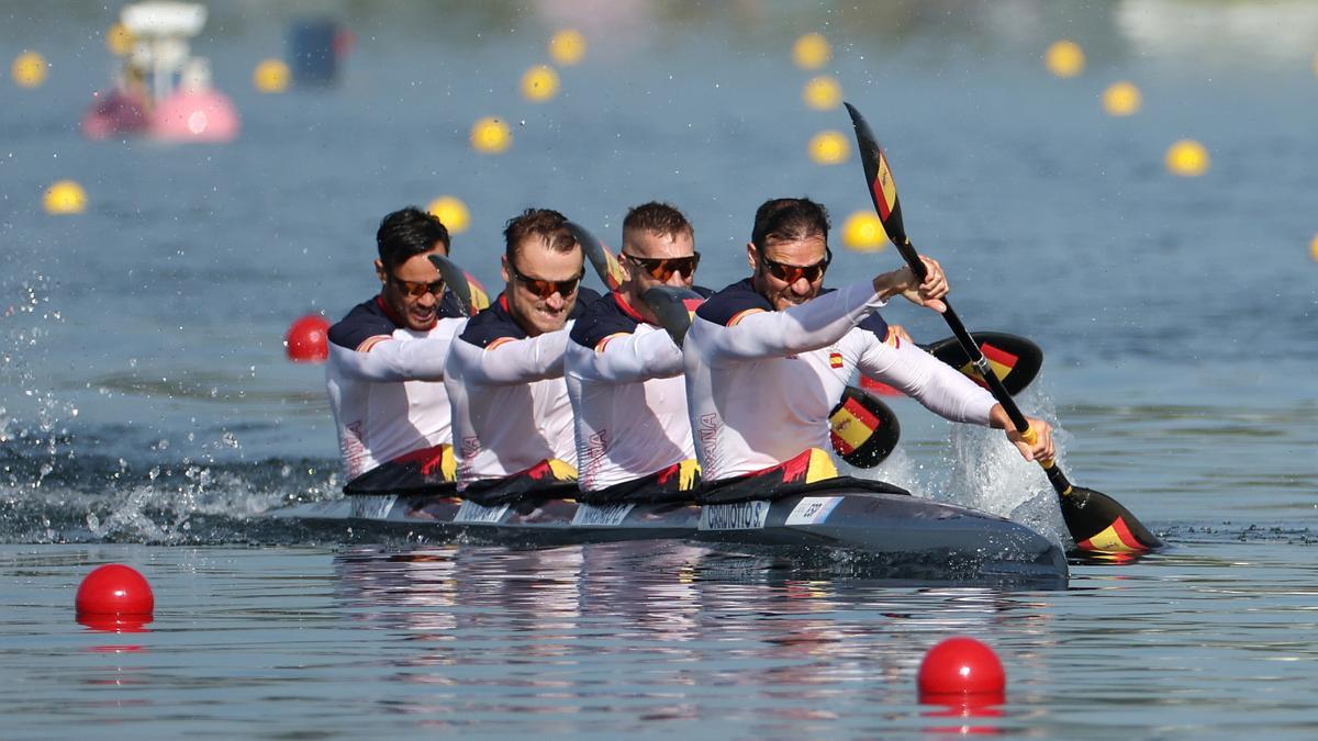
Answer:
M1052 458L1046 422L1029 419L1037 442L1025 443L988 392L890 332L878 314L895 295L942 311L938 262L921 256L924 282L903 266L828 290L828 231L818 203L766 202L746 244L751 276L696 311L683 351L701 501L774 497L837 476L825 452L828 417L855 369L946 419L1006 429L1027 460Z

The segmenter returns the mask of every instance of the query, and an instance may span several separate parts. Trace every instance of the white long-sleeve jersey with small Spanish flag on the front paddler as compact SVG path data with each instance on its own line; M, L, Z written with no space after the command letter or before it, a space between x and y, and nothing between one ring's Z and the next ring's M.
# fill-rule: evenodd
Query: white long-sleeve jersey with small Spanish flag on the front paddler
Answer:
M775 311L749 278L705 301L683 343L702 479L829 450L829 411L857 369L941 417L987 425L992 396L913 343L884 341L883 305L859 283Z

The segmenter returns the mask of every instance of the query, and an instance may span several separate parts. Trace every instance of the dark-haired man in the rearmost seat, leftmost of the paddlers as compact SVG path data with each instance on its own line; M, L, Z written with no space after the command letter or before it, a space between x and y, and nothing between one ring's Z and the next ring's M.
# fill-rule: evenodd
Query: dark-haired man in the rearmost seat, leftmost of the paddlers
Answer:
M349 484L399 458L453 480L444 360L465 318L428 256L448 256L448 229L415 207L376 232L380 293L330 327L326 386Z

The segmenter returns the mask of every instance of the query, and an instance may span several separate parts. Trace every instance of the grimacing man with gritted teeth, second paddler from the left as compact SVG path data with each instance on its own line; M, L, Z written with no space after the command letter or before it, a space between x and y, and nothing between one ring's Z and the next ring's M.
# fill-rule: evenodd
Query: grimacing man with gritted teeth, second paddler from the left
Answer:
M503 293L448 355L459 492L494 506L531 492L576 492L563 355L579 306L581 245L558 211L529 208L503 229ZM568 494L571 496L571 494Z

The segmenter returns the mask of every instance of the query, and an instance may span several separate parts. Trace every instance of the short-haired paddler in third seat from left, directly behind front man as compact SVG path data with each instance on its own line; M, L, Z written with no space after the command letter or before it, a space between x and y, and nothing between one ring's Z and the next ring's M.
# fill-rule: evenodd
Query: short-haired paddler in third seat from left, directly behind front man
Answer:
M667 203L627 211L622 283L585 307L572 328L565 376L584 502L689 500L700 481L681 348L642 298L656 285L692 289L695 236Z

